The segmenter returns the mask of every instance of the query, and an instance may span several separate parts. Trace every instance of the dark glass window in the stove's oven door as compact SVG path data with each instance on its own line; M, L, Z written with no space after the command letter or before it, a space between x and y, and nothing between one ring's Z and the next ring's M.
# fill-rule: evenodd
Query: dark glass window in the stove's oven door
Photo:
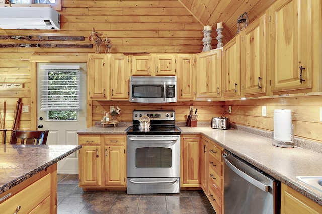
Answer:
M172 150L165 147L143 147L135 149L137 168L171 168Z

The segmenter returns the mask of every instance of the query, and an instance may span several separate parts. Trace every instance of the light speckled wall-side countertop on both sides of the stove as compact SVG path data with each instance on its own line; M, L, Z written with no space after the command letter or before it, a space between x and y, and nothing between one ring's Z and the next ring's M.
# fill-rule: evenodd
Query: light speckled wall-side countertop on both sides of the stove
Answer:
M126 134L131 124L103 128L94 126L80 130L78 134ZM322 205L322 191L316 190L296 176L322 176L322 144L295 138L294 148L273 146L272 132L245 126L234 126L229 130L211 129L210 123L198 123L197 127L186 127L176 123L181 134L201 134L215 141L226 150L239 156L277 180L292 187L306 197Z

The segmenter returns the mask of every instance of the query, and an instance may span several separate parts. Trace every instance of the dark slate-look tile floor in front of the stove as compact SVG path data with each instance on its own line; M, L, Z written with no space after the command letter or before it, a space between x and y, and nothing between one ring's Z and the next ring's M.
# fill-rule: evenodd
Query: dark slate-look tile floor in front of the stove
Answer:
M83 191L78 174L57 175L57 213L215 213L203 191L177 194L126 194Z

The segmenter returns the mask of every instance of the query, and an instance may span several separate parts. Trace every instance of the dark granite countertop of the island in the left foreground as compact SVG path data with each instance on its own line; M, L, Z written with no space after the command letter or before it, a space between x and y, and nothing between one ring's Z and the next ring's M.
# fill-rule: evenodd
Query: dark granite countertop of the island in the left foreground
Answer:
M0 193L81 148L81 145L0 145Z

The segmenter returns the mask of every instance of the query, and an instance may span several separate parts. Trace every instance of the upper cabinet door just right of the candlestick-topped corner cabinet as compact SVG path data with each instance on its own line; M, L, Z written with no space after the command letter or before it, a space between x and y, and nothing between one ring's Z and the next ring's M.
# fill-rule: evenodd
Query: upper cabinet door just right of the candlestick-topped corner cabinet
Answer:
M240 97L240 34L223 47L224 97Z

